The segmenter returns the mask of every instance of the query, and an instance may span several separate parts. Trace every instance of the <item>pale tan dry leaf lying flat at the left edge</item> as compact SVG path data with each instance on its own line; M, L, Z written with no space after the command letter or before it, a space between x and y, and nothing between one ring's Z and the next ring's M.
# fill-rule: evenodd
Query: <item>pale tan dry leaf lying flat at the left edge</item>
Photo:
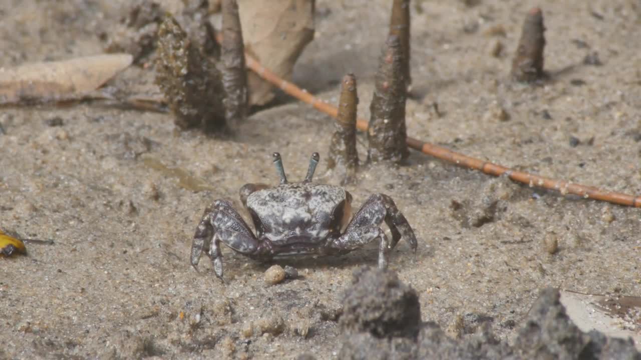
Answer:
M131 65L129 54L103 54L0 68L0 104L47 102L96 90Z

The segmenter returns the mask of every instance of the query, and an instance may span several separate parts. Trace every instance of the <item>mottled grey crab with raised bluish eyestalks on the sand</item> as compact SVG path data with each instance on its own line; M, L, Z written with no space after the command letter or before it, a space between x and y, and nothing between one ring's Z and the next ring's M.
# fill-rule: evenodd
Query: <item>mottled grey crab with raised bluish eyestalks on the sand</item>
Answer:
M351 218L352 196L339 186L314 183L312 177L320 160L312 154L307 176L289 183L280 154L274 152L280 184L246 184L240 200L256 229L247 223L226 200L215 200L205 209L192 241L190 261L194 269L203 251L222 280L221 243L258 261L295 256L342 255L378 240L378 267L387 268L388 254L401 238L415 252L416 236L410 224L389 196L371 195ZM390 229L389 240L381 224ZM344 232L341 232L344 229Z

